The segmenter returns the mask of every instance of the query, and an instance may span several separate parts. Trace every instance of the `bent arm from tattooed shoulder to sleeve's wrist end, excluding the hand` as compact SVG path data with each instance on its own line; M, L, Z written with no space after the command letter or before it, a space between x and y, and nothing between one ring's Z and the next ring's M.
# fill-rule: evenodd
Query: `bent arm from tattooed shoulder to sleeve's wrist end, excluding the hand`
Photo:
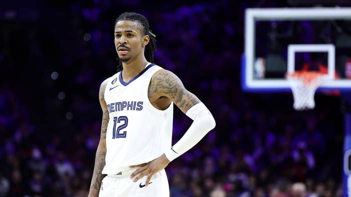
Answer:
M170 149L164 152L169 161L177 158L197 144L216 125L215 119L205 104L188 91L181 79L168 70L159 70L151 79L152 90L173 101L184 113L192 118L193 124Z

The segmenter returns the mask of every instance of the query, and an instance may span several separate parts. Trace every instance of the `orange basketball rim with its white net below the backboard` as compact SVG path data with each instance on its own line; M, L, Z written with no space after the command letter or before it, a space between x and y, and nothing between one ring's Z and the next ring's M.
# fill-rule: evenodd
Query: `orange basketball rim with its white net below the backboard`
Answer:
M294 96L294 109L314 108L314 93L321 82L321 75L320 72L307 70L286 74Z

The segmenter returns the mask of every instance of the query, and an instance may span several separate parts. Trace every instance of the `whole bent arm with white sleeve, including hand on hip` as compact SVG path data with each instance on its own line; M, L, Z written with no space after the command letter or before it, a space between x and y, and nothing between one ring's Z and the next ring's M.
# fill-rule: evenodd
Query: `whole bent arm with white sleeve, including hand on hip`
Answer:
M146 186L153 174L167 166L171 160L192 148L216 125L215 119L205 104L188 91L182 81L168 70L161 69L153 74L149 84L148 96L150 101L154 98L164 97L171 100L194 122L183 137L173 147L166 150L164 154L148 163L134 165L141 167L131 174L131 177L138 174L133 181L135 182L144 175L148 175L145 182Z

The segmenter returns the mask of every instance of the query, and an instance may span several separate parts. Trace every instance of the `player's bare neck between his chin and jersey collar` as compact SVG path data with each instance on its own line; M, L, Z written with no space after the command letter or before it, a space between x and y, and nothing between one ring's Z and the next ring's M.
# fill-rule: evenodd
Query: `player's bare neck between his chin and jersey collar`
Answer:
M133 59L131 61L122 62L123 71L122 78L124 81L129 81L134 76L138 75L144 68L148 61L143 58Z

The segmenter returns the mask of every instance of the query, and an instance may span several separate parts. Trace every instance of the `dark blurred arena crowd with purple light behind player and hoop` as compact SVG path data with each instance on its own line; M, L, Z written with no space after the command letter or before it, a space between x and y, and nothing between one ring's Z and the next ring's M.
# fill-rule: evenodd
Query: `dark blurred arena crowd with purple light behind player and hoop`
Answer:
M166 167L171 196L341 196L344 113L317 94L240 85L247 7L350 6L348 0L29 0L0 3L0 196L87 196L101 126L98 89L115 73L115 18L144 14L155 63L177 74L217 126ZM191 119L174 111L173 143ZM298 154L299 156L296 156ZM295 156L294 156L295 155Z

